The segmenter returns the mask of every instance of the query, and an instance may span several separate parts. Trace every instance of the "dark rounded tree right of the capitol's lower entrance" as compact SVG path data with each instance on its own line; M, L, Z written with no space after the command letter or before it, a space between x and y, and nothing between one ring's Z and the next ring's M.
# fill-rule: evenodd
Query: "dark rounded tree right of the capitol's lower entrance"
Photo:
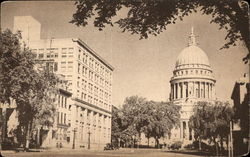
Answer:
M221 150L223 149L223 141L228 142L230 121L233 120L233 115L234 111L228 102L198 102L189 125L199 140L208 139L213 142L216 152L218 152L218 142Z

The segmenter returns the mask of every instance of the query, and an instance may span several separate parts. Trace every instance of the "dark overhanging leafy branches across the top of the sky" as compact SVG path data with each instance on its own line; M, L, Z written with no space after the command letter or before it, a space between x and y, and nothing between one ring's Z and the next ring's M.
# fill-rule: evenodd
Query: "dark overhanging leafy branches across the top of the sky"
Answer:
M177 19L200 9L202 14L211 15L210 23L216 23L225 29L227 43L222 48L236 45L236 41L244 41L249 51L249 25L247 6L240 8L236 0L78 0L77 7L70 21L77 26L86 26L88 19L95 16L94 26L102 30L106 25L118 24L124 31L139 34L141 39L148 35L158 35L166 30L167 25L175 24ZM122 9L128 10L127 17L112 21ZM243 61L248 60L248 55Z

